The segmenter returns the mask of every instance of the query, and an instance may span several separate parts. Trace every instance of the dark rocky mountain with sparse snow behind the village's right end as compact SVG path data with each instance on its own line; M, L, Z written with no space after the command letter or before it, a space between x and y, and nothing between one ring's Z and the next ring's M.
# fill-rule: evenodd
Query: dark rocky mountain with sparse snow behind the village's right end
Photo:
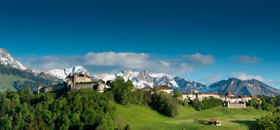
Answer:
M242 81L236 78L229 78L199 89L199 92L226 93L228 91L235 95L277 96L280 94L280 90L255 79Z

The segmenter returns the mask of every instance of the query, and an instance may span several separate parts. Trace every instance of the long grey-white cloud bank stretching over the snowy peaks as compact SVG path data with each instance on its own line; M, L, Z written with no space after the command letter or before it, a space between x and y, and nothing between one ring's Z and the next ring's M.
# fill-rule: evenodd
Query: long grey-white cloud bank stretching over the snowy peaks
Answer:
M193 58L193 60L191 60ZM85 55L65 56L52 55L40 58L18 57L29 67L41 70L63 69L74 66L84 66L90 73L116 73L125 69L142 71L148 69L160 73L190 73L196 64L211 64L214 56L181 55L179 59L159 54L134 53L134 52L88 52Z

